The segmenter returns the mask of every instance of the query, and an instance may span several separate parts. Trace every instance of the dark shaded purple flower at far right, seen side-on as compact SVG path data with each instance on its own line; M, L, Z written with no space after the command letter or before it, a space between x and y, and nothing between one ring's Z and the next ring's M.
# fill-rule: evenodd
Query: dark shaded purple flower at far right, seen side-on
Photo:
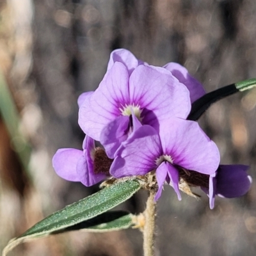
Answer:
M209 189L202 189L209 195L211 209L216 195L234 198L248 192L252 183L252 178L246 173L248 168L243 164L220 165L216 173L210 175Z

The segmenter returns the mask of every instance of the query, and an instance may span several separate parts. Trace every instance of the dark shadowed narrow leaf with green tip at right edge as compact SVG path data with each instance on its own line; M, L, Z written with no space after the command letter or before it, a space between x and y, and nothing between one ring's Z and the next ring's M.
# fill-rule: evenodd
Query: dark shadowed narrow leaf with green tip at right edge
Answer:
M230 96L234 93L250 90L253 87L256 87L255 78L241 81L235 84L230 84L213 92L206 93L200 99L193 102L191 111L187 119L196 121L214 102Z

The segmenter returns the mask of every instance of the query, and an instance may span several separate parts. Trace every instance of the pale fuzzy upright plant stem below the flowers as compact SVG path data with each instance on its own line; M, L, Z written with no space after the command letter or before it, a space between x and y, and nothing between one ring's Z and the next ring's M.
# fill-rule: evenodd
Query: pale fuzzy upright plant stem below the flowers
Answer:
M155 232L155 218L156 218L156 202L154 197L156 191L150 190L147 200L147 207L145 209L145 226L143 230L143 250L144 256L154 256L154 232Z

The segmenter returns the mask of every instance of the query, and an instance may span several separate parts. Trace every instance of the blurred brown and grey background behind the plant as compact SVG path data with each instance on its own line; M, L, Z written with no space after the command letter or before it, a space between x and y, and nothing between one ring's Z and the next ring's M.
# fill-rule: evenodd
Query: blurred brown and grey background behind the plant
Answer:
M0 116L0 251L44 216L97 191L60 179L51 157L60 147L81 148L76 100L98 86L113 49L129 49L152 65L178 62L211 92L256 77L255 13L253 0L0 0L0 68L20 115L14 137ZM255 106L256 90L238 93L200 119L221 163L250 164L254 178ZM19 158L26 141L29 166ZM187 195L179 202L166 186L156 255L255 255L255 182L242 198L218 198L212 211L200 195L199 202ZM135 213L144 207L144 193L122 205ZM10 255L137 256L141 242L138 230L70 232Z

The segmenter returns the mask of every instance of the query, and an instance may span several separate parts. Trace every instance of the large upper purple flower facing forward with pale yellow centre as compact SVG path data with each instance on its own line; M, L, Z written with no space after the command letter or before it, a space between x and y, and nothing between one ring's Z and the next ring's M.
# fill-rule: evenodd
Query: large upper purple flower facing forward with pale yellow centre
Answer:
M131 133L132 112L141 124L158 131L160 122L172 116L185 119L191 109L188 89L171 72L148 65L132 68L113 63L79 108L84 133L100 141L111 158Z

